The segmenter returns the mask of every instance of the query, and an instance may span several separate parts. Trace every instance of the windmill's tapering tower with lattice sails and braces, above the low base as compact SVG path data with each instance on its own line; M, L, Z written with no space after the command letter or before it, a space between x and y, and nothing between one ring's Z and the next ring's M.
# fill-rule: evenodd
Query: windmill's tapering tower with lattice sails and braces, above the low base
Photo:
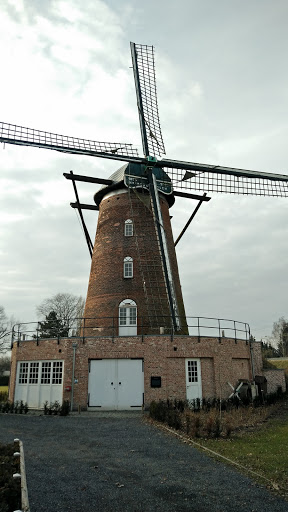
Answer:
M175 196L199 201L191 218L182 231L183 234L200 205L210 199L206 195L207 192L287 197L288 176L222 167L219 165L171 160L163 157L163 155L165 155L165 147L158 113L154 48L153 46L131 43L131 55L143 146L142 157L138 155L137 150L135 150L131 144L95 142L24 128L8 123L0 123L0 142L34 146L64 153L94 156L125 162L125 165L116 171L109 180L79 176L73 172L65 174L65 177L71 179L73 182L76 202L72 203L72 206L79 211L91 256L93 244L85 226L82 210L99 209L99 229L97 229L98 235L96 234L92 257L85 317L95 317L97 316L95 313L101 312L103 314L103 311L108 312L109 317L113 316L114 310L112 312L112 309L115 304L114 306L112 305L112 298L115 303L115 296L117 296L116 298L118 300L121 294L122 296L124 294L125 297L123 296L122 307L120 305L119 308L120 325L121 315L125 316L127 312L129 313L130 326L134 325L136 322L136 301L129 297L129 295L131 296L133 293L135 295L136 293L135 287L133 288L131 284L132 281L130 280L130 284L126 286L129 280L124 280L126 284L123 284L124 288L122 287L119 292L117 292L117 290L113 292L112 289L107 290L107 282L109 280L111 286L115 283L114 277L111 274L109 275L109 272L105 274L107 270L107 268L105 268L105 259L107 255L109 255L109 252L110 254L113 253L114 259L111 260L108 265L110 269L113 268L119 247L115 247L113 251L104 251L105 254L103 256L103 246L107 242L107 231L103 234L103 225L106 223L107 228L108 225L111 227L114 223L115 229L108 237L110 237L110 242L113 236L113 240L116 240L117 231L119 232L122 229L120 226L121 223L116 221L119 217L119 212L124 211L126 208L124 212L125 217L121 218L121 222L126 222L124 221L125 218L127 222L132 223L132 229L135 228L136 230L133 250L135 254L137 254L139 262L138 276L140 276L140 287L143 292L141 292L141 296L138 296L138 302L140 301L141 304L142 302L145 303L146 308L145 309L143 306L142 315L144 315L145 311L146 316L149 317L150 329L151 326L153 327L155 325L157 329L163 327L163 325L167 327L172 320L172 328L174 331L187 333L176 254L168 214L168 209L172 206ZM76 181L103 185L95 194L94 199L96 205L84 205L80 203ZM195 193L195 191L203 192L204 190L205 193L203 195ZM126 192L125 201L123 197L120 197L121 195L123 196L123 192ZM122 204L122 207L118 208L118 210L117 208L116 210L114 209L116 213L114 212L112 218L111 212L114 207L112 208L111 204L115 201L119 201L118 204L124 201L125 208ZM107 210L108 202L109 208ZM109 220L109 222L107 222L107 220ZM180 236L182 236L182 234ZM176 243L178 243L180 236L176 240ZM143 240L145 237L146 240ZM97 249L99 239L101 247ZM127 242L127 248L130 243L128 239L129 237L125 240L125 242ZM132 248L130 249L132 251ZM153 253L153 256L151 262L147 265L149 253ZM100 256L102 254L100 270L99 254ZM123 253L120 256L122 257ZM124 257L123 262L124 277L129 277L129 272L133 272L133 258L128 253L126 258L125 260ZM99 271L96 271L97 267ZM125 269L128 272L127 276L125 276ZM104 298L103 291L99 291L99 286L101 288L101 277L103 278L102 281L105 281L103 287L105 288L106 298ZM139 282L137 283L138 289ZM158 290L157 293L156 290ZM107 296L110 297L110 299L107 299ZM106 299L108 302L105 302ZM101 304L104 304L104 310L103 308L101 310ZM164 318L168 317L169 321L167 324ZM103 331L103 327L95 326L95 324L93 329L99 329L99 332L102 333L107 332L105 329Z

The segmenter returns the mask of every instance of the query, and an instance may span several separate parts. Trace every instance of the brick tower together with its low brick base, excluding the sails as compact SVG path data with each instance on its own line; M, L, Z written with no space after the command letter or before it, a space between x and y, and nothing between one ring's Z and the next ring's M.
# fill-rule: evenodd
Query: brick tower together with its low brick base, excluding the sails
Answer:
M155 212L142 183L126 186L129 165L95 195L98 227L79 336L20 335L12 349L11 400L35 408L63 399L81 408L141 408L166 398L227 398L230 384L253 382L262 371L259 343L250 343L247 330L238 335L233 328L225 337L219 328L211 336L200 332L198 319L197 335L188 334L169 216L174 197L165 193L164 173L159 222L177 312L171 319Z

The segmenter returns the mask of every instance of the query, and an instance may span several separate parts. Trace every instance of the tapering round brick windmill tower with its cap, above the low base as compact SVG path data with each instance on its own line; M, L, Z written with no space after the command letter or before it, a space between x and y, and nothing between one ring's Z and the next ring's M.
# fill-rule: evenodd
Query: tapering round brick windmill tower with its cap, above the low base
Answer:
M154 197L149 170L125 164L94 196L99 218L84 312L90 335L188 334L169 215L171 180L161 168L153 176Z

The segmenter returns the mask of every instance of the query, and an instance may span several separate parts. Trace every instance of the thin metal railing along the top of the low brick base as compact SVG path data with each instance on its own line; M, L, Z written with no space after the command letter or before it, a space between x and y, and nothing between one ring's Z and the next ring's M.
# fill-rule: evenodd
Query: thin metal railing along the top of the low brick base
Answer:
M13 326L11 346L15 341L36 340L54 338L80 337L83 342L86 338L122 337L122 336L189 336L201 338L217 338L219 342L225 338L237 340L250 340L250 327L246 322L229 320L225 318L211 317L179 317L182 330L175 331L172 318L168 316L158 317L157 324L151 325L148 319L138 316L137 324L121 325L118 317L72 318L59 320L43 327L43 321L23 322Z

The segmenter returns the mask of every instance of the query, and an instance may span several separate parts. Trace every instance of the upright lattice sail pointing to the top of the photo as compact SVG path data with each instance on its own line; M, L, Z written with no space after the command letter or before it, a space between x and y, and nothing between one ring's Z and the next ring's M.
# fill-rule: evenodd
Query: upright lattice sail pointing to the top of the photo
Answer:
M134 43L131 43L134 44ZM142 110L145 121L149 155L165 155L162 138L155 76L154 47L135 44ZM138 105L138 108L140 106Z

